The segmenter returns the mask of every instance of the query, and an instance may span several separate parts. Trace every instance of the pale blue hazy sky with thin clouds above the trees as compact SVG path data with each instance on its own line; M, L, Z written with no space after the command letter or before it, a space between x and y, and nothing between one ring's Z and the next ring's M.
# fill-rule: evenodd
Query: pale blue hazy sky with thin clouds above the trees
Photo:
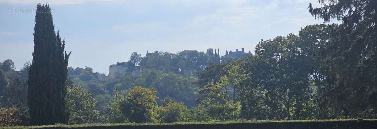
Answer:
M254 53L261 39L323 23L307 9L320 7L317 0L0 0L0 61L13 60L16 70L32 60L38 3L51 6L55 31L72 52L68 66L105 74L132 52Z

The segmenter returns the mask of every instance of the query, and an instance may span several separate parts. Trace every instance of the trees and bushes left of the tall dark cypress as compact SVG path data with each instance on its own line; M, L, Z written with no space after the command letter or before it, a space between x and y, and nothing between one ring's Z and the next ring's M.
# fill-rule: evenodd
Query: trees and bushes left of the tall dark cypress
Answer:
M26 62L15 71L14 62L0 62L0 126L28 125L28 71Z

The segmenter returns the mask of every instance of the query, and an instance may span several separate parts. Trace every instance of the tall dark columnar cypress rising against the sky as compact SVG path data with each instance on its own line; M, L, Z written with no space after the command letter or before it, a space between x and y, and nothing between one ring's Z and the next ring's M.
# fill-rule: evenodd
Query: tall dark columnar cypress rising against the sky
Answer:
M34 52L29 68L28 104L32 125L67 123L65 111L67 65L70 55L59 31L55 33L51 8L37 5L34 25Z

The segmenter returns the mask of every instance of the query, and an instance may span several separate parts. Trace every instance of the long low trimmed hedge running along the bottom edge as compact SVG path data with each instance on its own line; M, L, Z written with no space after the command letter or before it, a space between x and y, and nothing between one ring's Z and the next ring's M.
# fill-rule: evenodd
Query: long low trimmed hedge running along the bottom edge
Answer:
M74 124L0 127L5 129L376 129L377 119L368 120L238 120L212 122Z

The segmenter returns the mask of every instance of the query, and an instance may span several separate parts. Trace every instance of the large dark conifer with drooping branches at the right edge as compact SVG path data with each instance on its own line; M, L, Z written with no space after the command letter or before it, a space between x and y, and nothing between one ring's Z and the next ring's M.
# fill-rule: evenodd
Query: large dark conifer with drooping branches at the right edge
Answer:
M322 74L325 89L319 104L329 112L371 118L377 115L377 1L328 0L323 7L309 6L316 18L342 20L331 29L324 45Z

